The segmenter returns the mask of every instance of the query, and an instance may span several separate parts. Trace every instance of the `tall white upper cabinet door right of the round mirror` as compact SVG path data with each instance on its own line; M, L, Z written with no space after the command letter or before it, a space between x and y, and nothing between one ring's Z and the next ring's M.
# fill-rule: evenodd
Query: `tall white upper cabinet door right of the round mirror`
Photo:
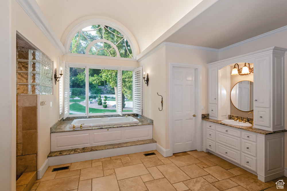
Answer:
M270 56L255 58L254 62L254 107L270 108Z

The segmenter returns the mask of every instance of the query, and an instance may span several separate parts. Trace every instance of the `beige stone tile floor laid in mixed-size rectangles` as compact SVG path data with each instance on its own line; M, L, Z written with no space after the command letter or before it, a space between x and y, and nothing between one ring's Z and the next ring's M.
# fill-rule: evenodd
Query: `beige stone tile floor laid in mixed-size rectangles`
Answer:
M144 156L150 152L156 155ZM63 166L70 168L52 172L53 168ZM272 191L277 190L278 180L287 185L287 177L263 183L254 174L203 151L176 153L171 157L147 151L50 166L31 190Z

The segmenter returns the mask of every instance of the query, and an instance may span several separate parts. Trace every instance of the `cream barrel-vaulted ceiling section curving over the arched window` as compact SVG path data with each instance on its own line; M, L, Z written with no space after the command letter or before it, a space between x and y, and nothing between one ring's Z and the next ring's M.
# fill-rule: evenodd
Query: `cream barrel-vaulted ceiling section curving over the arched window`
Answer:
M104 16L123 24L142 51L191 11L202 0L36 0L61 40L77 19Z

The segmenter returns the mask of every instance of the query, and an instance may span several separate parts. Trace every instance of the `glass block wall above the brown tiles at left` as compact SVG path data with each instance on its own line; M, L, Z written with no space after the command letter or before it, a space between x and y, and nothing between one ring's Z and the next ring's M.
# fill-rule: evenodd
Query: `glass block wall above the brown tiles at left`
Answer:
M53 61L40 50L17 50L17 94L53 93Z

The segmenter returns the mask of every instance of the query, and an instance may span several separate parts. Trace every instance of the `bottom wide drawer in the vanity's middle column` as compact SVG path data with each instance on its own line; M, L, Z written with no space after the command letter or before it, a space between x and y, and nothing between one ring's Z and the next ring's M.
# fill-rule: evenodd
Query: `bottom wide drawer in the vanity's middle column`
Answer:
M241 155L240 151L234 151L231 148L228 148L224 145L216 143L216 153L228 158L229 160L232 160L240 164L240 155Z

